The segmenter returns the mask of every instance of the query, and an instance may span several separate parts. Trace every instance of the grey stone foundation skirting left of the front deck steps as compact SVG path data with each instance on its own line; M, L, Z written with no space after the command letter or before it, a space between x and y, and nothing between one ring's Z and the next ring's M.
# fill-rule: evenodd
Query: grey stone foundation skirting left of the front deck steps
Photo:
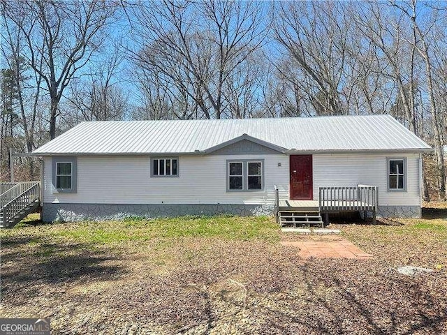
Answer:
M129 216L160 218L184 215L272 215L269 204L43 204L44 222L121 220Z

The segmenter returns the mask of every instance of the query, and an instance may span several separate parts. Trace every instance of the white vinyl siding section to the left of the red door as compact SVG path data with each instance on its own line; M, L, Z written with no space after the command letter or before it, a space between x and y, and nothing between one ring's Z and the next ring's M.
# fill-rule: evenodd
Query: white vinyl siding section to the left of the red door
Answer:
M50 192L45 158L44 202L90 204L273 204L274 188L288 198L288 156L283 154L180 156L179 177L150 178L149 156L78 156L78 193ZM227 161L264 161L263 190L226 192ZM281 163L281 166L278 166Z

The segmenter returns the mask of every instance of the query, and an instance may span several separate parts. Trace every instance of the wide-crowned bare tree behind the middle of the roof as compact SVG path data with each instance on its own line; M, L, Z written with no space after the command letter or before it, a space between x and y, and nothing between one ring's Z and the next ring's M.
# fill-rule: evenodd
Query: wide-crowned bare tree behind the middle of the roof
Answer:
M135 60L170 94L186 95L184 105L197 110L196 117L233 117L234 99L241 97L234 91L240 84L231 81L240 80L238 74L265 38L261 7L238 1L142 3L135 7L144 36Z

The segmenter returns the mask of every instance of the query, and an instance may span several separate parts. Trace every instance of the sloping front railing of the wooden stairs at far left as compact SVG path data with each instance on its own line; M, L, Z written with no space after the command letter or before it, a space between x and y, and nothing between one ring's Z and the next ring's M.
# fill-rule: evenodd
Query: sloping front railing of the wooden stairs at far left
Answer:
M30 204L33 204L41 195L41 183L39 181L29 181L22 184L22 193L4 204L0 210L3 211L3 225L8 227L9 221L14 218L20 211Z

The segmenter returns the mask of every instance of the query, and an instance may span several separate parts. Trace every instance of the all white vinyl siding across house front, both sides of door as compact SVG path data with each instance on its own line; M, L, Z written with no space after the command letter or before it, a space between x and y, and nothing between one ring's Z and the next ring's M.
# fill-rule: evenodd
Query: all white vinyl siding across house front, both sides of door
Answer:
M319 186L379 186L380 205L420 205L418 154L406 158L406 192L387 191L387 158L393 154L314 154L314 200ZM177 178L150 178L149 156L79 156L78 192L52 193L51 158L45 158L44 202L87 204L273 204L289 198L289 158L270 154L264 160L263 190L226 192L227 161L254 160L252 155L179 156ZM281 166L278 166L281 163Z

